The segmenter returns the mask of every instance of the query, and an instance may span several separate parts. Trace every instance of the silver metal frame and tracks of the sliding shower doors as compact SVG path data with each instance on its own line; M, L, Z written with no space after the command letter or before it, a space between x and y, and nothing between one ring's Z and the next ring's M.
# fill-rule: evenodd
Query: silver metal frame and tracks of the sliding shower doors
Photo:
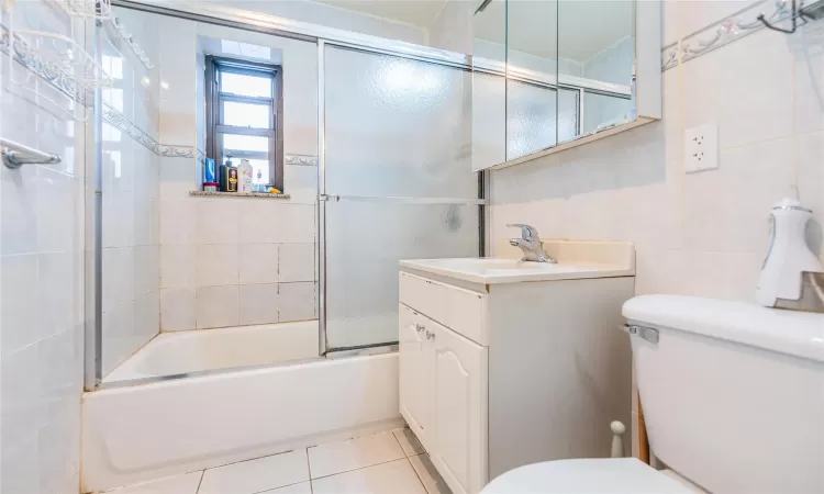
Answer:
M326 357L329 348L326 346L326 248L325 248L325 202L327 197L325 184L325 108L324 108L324 49L327 45L355 48L364 52L376 54L391 55L402 58L414 59L431 64L444 65L461 70L472 70L471 56L448 52L444 49L431 48L427 46L415 45L413 43L387 40L379 36L360 34L334 27L325 27L305 22L291 21L288 19L277 18L263 12L253 12L233 7L220 4L198 3L198 4L176 4L175 8L167 7L170 3L147 3L134 0L111 0L112 7L132 9L159 15L168 15L188 21L203 22L208 24L222 25L225 27L241 29L253 31L261 34L269 34L279 37L299 40L315 43L318 47L318 327L319 327L319 357ZM96 35L100 27L96 24ZM99 55L99 54L98 54ZM94 101L102 101L102 89L94 90ZM102 121L102 108L96 104L96 123ZM102 136L98 132L94 135L94 164L91 172L94 177L100 177L102 171ZM477 172L478 175L478 199L461 200L464 204L478 205L478 254L483 256L487 251L488 239L486 238L487 218L487 200L486 191L488 189L488 173ZM100 194L102 190L94 187L90 193L94 194L91 212L87 212L93 224L93 235L96 245L102 238L102 200ZM89 192L87 192L89 193ZM411 200L412 198L390 198L396 200ZM419 199L415 202L432 203L432 199ZM193 375L212 375L238 370L255 368L282 367L294 362L275 362L265 366L244 366L230 369L214 369L191 373L181 373L175 375L158 375L130 381L118 381L103 384L102 375L102 251L98 248L93 252L92 266L87 266L87 276L85 280L86 293L93 293L96 303L94 314L92 317L86 317L86 355L83 382L86 391L96 391L103 388L122 388L135 384L146 384L152 382L162 382L177 379L185 379ZM93 272L91 272L93 271ZM341 349L339 355L335 357L347 357L349 355L359 355L361 352L375 353L380 351L380 347L391 346L392 343L380 343L365 347ZM388 351L393 349L387 348Z

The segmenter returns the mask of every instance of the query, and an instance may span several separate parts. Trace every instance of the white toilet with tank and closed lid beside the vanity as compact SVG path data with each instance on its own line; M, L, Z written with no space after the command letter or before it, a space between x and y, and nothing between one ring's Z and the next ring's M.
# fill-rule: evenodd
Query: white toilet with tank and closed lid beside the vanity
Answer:
M824 314L679 295L636 296L623 314L666 469L546 461L482 494L824 493Z

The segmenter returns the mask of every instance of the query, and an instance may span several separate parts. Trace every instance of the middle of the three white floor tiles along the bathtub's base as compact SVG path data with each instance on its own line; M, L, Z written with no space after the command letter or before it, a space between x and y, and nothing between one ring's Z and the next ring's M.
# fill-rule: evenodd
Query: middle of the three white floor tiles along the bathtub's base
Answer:
M198 494L253 494L309 480L307 450L209 469Z

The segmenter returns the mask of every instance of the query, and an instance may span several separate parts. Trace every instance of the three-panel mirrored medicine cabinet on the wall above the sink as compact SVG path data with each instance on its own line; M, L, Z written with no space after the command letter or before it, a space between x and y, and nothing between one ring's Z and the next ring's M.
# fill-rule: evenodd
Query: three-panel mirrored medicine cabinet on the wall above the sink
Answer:
M650 94L643 114L635 93L642 46L636 10L660 20L659 2L477 0L477 5L476 170L503 168L660 119L659 22L643 32Z

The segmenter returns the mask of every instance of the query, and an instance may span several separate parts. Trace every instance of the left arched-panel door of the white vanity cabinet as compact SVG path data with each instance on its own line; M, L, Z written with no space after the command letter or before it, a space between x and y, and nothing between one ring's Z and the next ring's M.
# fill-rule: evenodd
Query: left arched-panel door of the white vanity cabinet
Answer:
M400 352L400 408L410 429L424 448L427 444L428 385L426 352L431 351L424 336L422 316L400 304L398 328Z

